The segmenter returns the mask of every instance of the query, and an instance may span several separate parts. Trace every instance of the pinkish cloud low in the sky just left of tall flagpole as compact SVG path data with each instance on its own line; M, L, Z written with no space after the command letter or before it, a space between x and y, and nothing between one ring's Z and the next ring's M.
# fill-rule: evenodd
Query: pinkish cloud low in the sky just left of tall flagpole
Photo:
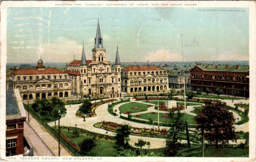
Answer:
M151 52L148 55L145 55L141 61L148 60L149 62L156 61L182 61L181 54L172 54L166 49L160 49L155 52Z

